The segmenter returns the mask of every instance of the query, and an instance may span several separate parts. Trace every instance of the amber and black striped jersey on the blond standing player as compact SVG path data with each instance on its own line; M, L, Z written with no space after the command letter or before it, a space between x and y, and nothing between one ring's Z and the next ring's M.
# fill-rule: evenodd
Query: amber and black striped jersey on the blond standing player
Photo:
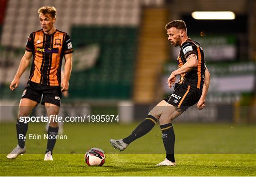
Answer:
M28 36L26 51L33 54L29 80L38 84L60 86L63 56L73 52L69 35L59 30L54 34L38 30Z

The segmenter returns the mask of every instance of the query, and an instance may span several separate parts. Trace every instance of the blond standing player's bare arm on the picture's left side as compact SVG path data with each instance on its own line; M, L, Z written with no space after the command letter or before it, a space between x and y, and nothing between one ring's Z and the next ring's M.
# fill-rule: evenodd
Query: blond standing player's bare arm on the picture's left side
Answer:
M23 55L23 57L20 61L18 71L17 71L16 75L14 76L14 78L11 81L11 84L9 86L10 90L13 91L18 87L19 78L24 73L24 71L27 69L27 67L30 63L30 60L31 60L31 56L32 56L32 51L25 51L25 54Z

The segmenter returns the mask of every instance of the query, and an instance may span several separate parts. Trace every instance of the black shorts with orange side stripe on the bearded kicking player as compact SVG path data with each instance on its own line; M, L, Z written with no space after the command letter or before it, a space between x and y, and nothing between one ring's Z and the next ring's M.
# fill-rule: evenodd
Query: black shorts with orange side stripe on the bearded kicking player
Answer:
M174 92L164 100L169 104L186 111L190 106L197 103L201 97L202 90L190 85L175 84Z

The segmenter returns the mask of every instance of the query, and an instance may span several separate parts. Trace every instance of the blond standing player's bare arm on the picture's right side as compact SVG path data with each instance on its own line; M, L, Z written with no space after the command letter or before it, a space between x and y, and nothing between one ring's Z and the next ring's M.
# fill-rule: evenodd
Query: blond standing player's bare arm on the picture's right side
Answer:
M72 70L72 53L68 53L64 55L64 59L65 59L65 64L64 64L64 77L61 80L61 91L67 91L69 84L69 78L71 75L71 70Z

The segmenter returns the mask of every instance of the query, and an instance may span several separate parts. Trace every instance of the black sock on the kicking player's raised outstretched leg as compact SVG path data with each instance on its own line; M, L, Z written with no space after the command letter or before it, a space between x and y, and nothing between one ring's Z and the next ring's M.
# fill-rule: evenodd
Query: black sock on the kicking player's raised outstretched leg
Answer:
M128 137L123 139L124 143L131 143L134 140L140 138L141 136L146 135L148 132L150 132L150 130L152 130L152 128L155 126L157 122L157 118L155 118L154 116L148 115L147 118L145 118L145 120L143 122L141 122L131 133L131 135L129 135Z

